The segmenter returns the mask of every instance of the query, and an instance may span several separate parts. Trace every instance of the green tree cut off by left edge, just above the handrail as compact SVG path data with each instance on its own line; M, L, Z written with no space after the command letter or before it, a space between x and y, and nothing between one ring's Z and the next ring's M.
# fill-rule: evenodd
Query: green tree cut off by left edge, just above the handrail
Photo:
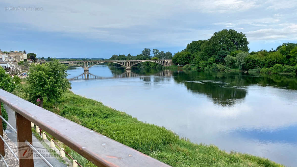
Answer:
M15 90L15 84L13 83L12 77L5 72L3 68L0 68L0 89L12 92Z

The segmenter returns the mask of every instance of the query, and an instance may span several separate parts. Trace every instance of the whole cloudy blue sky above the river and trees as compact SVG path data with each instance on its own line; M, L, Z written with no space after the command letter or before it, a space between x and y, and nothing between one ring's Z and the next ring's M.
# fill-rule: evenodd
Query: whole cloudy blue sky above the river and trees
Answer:
M222 29L250 51L297 43L297 0L1 0L0 49L37 57L110 58L183 50Z

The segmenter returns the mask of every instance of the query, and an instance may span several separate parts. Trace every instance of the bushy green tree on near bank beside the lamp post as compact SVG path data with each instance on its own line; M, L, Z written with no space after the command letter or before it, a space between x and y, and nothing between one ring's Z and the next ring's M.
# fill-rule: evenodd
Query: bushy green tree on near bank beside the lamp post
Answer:
M37 65L32 64L29 69L29 86L26 89L26 94L32 102L39 98L41 100L40 107L43 107L44 100L55 102L70 88L66 77L67 66L60 64L58 60Z

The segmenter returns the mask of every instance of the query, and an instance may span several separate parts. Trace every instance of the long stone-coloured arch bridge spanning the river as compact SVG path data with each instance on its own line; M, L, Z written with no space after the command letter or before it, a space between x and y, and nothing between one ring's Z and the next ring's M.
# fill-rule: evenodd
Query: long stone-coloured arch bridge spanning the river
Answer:
M124 66L127 70L131 69L132 66L142 63L142 62L155 62L161 64L162 66L173 65L171 59L162 59L162 60L87 60L87 61L60 61L59 63L63 64L75 64L82 67L85 71L89 71L89 68L101 64L101 63L116 63Z

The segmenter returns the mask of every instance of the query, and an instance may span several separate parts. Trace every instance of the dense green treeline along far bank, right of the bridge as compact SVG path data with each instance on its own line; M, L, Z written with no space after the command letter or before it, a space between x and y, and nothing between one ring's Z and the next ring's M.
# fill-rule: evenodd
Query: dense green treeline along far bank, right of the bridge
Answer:
M174 64L185 65L184 69L199 71L297 73L297 43L283 43L270 51L250 53L248 44L242 32L223 29L208 40L189 43L184 50L174 54L172 61Z

